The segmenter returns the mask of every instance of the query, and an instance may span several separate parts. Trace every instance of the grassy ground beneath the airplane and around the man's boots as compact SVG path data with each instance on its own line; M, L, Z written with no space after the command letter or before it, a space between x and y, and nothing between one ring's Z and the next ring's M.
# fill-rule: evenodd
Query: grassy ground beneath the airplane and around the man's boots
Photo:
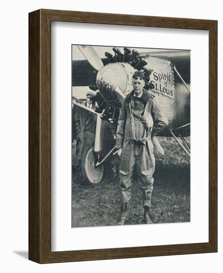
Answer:
M187 142L190 137L187 137ZM190 221L190 160L171 137L159 138L165 155L156 155L152 220L154 223ZM75 164L75 144L73 163ZM74 172L72 181L72 227L115 225L120 216L118 177L108 171L97 187L84 185ZM128 224L143 224L142 194L137 177L132 187Z

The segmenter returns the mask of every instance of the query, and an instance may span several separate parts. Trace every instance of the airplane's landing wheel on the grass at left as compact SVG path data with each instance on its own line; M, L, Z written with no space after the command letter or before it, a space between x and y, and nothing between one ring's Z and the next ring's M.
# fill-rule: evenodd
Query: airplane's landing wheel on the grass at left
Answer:
M104 165L95 167L95 164L94 147L92 146L84 152L83 160L81 160L81 172L83 180L93 186L100 184L104 175Z

